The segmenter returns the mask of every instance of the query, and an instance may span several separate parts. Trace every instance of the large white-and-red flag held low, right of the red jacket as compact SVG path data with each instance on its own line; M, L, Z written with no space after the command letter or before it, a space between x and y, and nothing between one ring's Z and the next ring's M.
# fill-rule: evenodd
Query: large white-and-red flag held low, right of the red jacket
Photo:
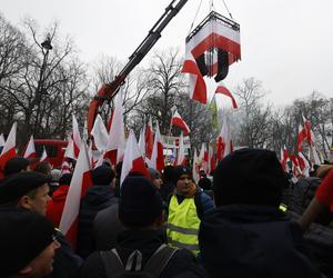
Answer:
M91 167L84 142L82 142L80 150L59 226L73 249L77 246L81 197L85 196L87 189L92 186Z

